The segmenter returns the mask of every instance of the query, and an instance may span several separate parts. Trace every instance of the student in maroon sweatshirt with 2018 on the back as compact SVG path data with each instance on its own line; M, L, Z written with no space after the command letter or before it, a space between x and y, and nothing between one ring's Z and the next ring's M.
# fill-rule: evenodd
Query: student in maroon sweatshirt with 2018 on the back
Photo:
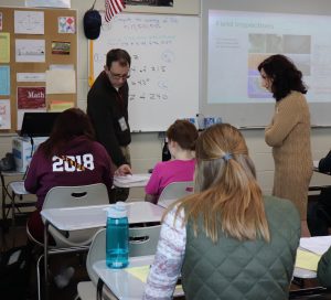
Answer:
M26 191L38 196L36 211L28 221L32 236L43 240L40 211L52 188L104 183L109 193L114 175L111 165L106 149L94 139L88 116L78 108L63 111L51 137L34 153L24 181ZM124 164L116 172L124 174L131 170Z

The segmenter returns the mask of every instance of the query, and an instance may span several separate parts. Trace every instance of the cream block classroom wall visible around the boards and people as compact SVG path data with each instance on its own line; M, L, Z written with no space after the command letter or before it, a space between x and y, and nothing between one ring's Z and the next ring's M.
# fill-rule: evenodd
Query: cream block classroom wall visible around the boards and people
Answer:
M179 4L178 11L184 11L189 14L200 13L200 0L175 0ZM247 0L248 1L248 0ZM86 95L88 90L87 85L87 40L84 36L82 19L87 9L92 6L90 1L72 0L72 9L78 11L78 100L77 105L82 109L86 108ZM104 0L97 0L97 8L103 9ZM0 6L18 6L23 7L24 0L0 0ZM153 8L154 10L156 8ZM238 8L239 9L239 8ZM137 10L137 9L136 9ZM164 11L163 11L164 12ZM263 186L265 193L270 193L273 189L274 176L274 161L271 157L271 150L266 146L264 141L264 130L249 129L243 131L247 146L249 148L250 156L255 162L257 169L258 181ZM318 160L323 157L331 148L331 128L313 128L311 130L311 142L313 159ZM4 156L7 151L11 151L12 136L0 135L0 158ZM134 133L131 143L131 158L134 171L146 172L147 169L153 167L153 164L161 158L161 140L158 138L158 133ZM331 184L331 178L327 175L313 176L314 184ZM131 192L132 197L141 197L143 195L142 190L134 189Z

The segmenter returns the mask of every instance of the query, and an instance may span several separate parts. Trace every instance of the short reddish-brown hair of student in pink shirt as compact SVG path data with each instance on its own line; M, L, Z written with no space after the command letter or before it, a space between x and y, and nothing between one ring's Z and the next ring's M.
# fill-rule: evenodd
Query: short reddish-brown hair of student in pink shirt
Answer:
M169 140L175 141L184 150L195 150L197 130L195 126L188 120L177 120L171 125L167 132Z

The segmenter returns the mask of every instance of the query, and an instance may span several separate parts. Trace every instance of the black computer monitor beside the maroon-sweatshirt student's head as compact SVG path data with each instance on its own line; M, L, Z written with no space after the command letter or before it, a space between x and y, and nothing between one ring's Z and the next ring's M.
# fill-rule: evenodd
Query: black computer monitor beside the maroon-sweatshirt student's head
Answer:
M61 113L24 113L21 137L49 137Z

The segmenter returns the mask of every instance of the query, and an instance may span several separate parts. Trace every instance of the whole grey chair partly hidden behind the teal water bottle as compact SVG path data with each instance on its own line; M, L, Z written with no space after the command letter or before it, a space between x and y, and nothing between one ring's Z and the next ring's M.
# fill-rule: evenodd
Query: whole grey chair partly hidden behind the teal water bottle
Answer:
M129 228L129 256L154 255L157 251L161 225L150 227L131 227ZM106 259L106 229L99 231L90 245L86 269L92 281L83 281L77 286L78 297L82 300L96 299L96 285L98 276L93 270L93 264ZM113 292L104 288L105 299L117 299Z

